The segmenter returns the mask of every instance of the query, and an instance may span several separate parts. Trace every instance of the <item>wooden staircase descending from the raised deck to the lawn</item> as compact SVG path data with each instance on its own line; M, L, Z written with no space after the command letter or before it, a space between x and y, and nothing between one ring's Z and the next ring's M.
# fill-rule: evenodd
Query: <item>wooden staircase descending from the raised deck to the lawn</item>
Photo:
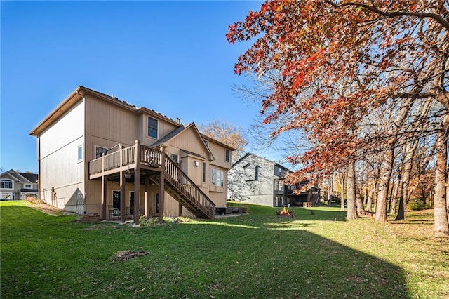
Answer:
M165 154L164 182L168 194L197 218L212 219L215 204L182 169Z

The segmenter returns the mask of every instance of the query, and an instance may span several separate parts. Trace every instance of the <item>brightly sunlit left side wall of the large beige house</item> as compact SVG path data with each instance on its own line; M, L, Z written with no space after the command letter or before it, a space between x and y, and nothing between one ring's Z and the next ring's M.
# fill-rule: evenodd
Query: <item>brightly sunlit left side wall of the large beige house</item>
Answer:
M75 211L78 194L84 194L84 107L85 102L81 100L40 136L39 197L69 211ZM78 161L80 145L83 147L82 161ZM52 187L57 197L53 200Z

